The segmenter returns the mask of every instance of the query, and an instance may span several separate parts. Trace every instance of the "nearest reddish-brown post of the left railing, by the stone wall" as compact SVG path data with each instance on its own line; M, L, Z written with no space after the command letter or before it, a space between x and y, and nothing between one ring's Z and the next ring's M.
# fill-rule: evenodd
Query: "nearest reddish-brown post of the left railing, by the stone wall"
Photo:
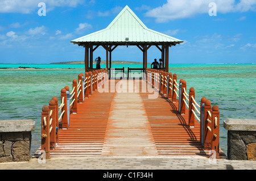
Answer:
M46 159L50 158L50 135L49 135L49 107L43 106L41 113L41 123L42 123L42 135L41 144L42 150L46 152Z

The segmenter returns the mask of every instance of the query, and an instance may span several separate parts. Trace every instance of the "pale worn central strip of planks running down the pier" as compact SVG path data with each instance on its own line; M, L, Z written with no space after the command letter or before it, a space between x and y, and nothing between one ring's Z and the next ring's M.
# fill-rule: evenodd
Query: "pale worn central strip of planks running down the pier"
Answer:
M138 87L126 81L112 102L102 155L158 155Z

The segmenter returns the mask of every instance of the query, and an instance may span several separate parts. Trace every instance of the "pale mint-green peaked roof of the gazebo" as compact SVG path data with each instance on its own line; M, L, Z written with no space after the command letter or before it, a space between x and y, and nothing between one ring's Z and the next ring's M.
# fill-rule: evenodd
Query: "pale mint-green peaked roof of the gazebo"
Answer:
M85 45L176 45L183 43L163 33L147 28L137 15L128 7L115 17L104 30L72 40L71 43Z

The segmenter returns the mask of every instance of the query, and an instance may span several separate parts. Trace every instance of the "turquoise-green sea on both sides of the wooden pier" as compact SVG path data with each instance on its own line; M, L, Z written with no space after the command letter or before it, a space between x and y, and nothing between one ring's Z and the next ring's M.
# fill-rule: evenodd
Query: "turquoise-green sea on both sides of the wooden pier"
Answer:
M0 69L0 120L33 119L31 154L39 148L41 111L60 90L72 87L73 79L84 73L80 64L0 64L0 68L42 68L34 70ZM95 65L94 65L95 66ZM112 68L142 68L142 64L112 65ZM220 107L220 148L226 153L227 118L256 119L256 64L170 64L177 79L195 88L196 101L205 96ZM104 68L104 65L102 66Z

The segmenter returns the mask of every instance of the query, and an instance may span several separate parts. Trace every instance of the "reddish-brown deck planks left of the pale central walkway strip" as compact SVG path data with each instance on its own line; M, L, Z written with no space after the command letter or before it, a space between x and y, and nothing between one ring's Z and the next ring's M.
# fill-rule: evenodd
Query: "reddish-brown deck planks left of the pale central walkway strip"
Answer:
M59 129L59 144L51 157L101 155L113 93L97 90L77 104L77 113L70 115L67 130Z

